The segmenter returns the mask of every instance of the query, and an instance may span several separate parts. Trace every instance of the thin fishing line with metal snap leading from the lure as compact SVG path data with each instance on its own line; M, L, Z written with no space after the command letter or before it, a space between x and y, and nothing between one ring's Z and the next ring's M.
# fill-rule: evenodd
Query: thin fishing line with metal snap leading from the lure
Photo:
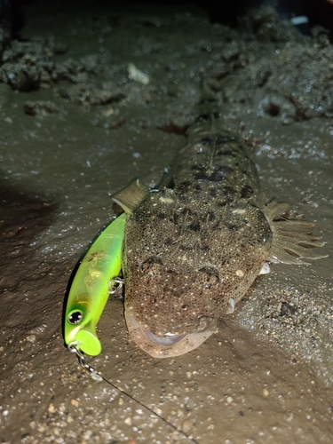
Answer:
M178 432L180 435L184 436L186 440L189 440L189 442L192 442L193 444L199 444L199 442L197 440L194 440L194 438L191 435L188 435L186 432L183 432L182 430L178 429L176 425L171 424L167 419L163 418L163 416L156 413L152 408L147 407L140 400L137 400L136 398L131 396L131 394L124 392L123 389L121 389L120 387L109 381L106 377L99 375L99 373L97 373L97 371L93 367L91 367L91 364L84 358L83 353L75 345L68 345L68 350L76 354L77 360L79 361L80 365L83 367L83 369L87 370L87 372L91 375L94 381L97 382L104 381L108 385L111 385L112 388L114 388L117 392L122 393L127 399L133 400L134 402L139 404L140 407L145 408L145 410L147 410L149 413L151 413L158 419L161 419L161 421L163 421L164 424L168 425L174 432Z

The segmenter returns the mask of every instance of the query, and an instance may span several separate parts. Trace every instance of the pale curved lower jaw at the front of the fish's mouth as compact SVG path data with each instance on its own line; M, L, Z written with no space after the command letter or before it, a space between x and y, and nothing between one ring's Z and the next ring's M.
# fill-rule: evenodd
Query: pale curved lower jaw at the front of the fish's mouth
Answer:
M127 329L134 342L154 358L170 358L188 353L202 345L214 333L214 330L206 330L199 333L187 333L186 335L166 333L165 336L159 337L143 327L130 314L125 313L125 319Z

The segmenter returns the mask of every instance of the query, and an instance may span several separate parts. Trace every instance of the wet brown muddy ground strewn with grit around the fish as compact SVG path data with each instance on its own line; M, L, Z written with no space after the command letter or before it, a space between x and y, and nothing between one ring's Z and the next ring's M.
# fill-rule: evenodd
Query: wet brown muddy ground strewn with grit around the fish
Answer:
M0 66L2 443L330 443L333 49L271 10L238 28L193 7L34 2ZM132 65L130 65L132 64ZM202 76L254 153L267 198L316 223L328 258L271 266L191 353L156 360L111 298L91 365L64 346L67 282L115 216L156 186L194 122Z

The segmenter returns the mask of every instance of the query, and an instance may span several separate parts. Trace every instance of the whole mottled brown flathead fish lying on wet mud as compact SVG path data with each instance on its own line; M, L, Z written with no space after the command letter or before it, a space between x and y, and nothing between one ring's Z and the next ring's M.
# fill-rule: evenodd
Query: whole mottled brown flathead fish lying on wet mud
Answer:
M157 189L137 180L114 196L128 214L127 329L155 358L202 345L271 263L325 257L316 252L324 242L312 222L287 218L287 202L267 202L249 149L217 110L206 88L186 144Z

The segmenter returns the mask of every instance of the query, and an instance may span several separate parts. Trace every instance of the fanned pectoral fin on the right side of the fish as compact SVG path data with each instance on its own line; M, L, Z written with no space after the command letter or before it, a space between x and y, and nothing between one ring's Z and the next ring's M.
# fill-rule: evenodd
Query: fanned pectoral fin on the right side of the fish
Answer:
M309 264L307 259L327 258L316 252L326 242L313 235L313 222L292 220L285 213L290 209L287 202L270 202L266 205L265 214L273 232L272 253L269 260L283 264Z

